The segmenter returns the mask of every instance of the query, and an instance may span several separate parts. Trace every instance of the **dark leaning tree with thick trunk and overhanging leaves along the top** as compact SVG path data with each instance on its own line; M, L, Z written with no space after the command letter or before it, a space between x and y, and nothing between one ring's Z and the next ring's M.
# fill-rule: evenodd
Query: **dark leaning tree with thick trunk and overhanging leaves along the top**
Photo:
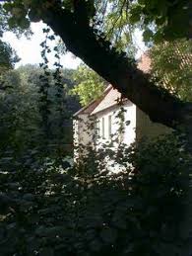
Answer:
M115 48L113 40L106 40L108 31L104 30L106 16L118 10L117 17L120 17L119 14L125 10L127 24L144 28L146 41L189 38L190 1L4 2L4 10L10 15L8 23L11 28L19 26L26 29L31 21L43 21L61 37L68 50L79 56L123 96L148 114L152 121L170 128L180 129L180 126L184 126L186 144L188 150L192 151L192 104L182 102L157 87L149 80L149 75L138 70L133 60L126 57L125 52L119 52ZM113 24L115 25L115 20ZM115 32L114 26L113 33ZM187 204L185 206L187 207ZM190 233L187 230L190 228L189 224L182 227L186 227L185 233Z

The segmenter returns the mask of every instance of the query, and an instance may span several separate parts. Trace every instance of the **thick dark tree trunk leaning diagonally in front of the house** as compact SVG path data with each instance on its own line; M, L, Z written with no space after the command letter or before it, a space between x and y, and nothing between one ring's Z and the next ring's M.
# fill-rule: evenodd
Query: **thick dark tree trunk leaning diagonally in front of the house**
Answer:
M148 114L152 121L170 128L185 122L189 104L185 106L156 87L131 59L116 52L103 39L96 38L93 28L80 26L74 14L55 8L44 13L43 21L62 38L70 51Z

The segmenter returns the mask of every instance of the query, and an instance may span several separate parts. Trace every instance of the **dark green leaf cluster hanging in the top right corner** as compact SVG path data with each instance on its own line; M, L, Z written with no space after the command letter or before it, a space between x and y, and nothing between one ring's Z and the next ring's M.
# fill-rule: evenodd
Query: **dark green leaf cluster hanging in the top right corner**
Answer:
M190 8L187 0L139 0L131 5L130 20L141 25L147 42L186 38L189 36Z

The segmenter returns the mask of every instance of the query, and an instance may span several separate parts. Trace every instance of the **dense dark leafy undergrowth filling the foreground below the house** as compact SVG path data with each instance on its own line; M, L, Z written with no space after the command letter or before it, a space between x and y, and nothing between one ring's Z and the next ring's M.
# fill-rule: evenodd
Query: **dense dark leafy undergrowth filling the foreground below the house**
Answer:
M2 169L1 255L180 255L187 159L178 140L120 146L118 173L99 169L106 151L71 167L46 159Z

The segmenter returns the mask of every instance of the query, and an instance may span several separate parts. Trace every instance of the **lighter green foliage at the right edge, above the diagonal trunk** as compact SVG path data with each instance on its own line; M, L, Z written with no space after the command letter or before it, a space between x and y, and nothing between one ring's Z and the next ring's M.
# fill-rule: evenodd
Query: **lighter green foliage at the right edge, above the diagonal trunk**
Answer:
M183 101L192 101L192 43L186 40L155 44L149 51L158 85Z

